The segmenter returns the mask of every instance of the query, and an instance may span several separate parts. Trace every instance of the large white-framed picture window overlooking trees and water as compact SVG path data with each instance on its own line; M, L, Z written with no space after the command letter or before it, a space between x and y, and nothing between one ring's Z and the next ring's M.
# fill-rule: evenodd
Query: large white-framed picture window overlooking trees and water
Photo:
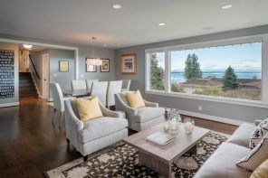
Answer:
M262 39L151 49L146 57L147 91L267 102L263 94L263 86L268 87L263 75L268 73L262 70Z

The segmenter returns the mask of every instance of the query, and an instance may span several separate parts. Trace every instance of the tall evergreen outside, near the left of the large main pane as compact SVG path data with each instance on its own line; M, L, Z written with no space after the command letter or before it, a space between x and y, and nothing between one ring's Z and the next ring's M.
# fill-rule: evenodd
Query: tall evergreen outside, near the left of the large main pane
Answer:
M188 54L187 56L185 78L187 80L202 78L202 70L200 69L198 57L195 53L193 53L192 55Z

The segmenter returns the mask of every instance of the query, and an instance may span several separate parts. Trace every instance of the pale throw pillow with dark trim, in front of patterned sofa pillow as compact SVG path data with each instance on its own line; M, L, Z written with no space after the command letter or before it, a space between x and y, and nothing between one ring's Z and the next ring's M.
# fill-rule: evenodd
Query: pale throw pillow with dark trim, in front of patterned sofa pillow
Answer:
M254 171L260 164L268 159L268 133L263 136L262 141L250 150L236 165L244 169Z

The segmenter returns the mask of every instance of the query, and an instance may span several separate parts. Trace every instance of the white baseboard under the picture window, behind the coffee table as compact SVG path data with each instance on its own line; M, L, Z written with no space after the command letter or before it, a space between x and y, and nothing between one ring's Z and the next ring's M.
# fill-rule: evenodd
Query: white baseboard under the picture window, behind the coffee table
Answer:
M206 120L211 120L211 121L215 121L215 122L221 122L221 123L230 124L230 125L234 125L234 126L240 126L243 123L248 123L248 122L242 121L242 120L235 120L235 119L232 119L232 118L225 118L225 117L215 117L215 116L210 116L210 115L206 115L206 114L186 111L186 110L180 110L180 114L187 115L189 117L204 118Z

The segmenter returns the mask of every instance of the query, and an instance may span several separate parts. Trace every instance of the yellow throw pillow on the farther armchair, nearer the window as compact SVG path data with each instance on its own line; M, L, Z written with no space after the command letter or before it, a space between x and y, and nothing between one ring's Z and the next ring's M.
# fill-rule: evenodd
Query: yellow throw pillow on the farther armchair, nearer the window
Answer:
M126 93L129 100L129 106L131 108L143 108L145 107L143 98L140 95L139 89L137 91L129 91Z

